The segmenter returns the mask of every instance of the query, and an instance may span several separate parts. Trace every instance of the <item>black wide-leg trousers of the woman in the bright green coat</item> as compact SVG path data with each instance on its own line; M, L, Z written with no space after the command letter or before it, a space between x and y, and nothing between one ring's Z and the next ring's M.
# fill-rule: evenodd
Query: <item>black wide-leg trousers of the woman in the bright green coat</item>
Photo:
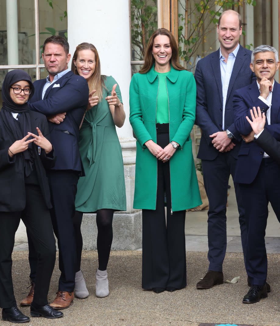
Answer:
M168 133L157 134L157 144L164 148L169 143ZM172 159L172 158L171 158ZM165 222L164 192L167 199ZM185 214L171 215L169 162L157 162L156 209L142 210L142 288L186 286Z

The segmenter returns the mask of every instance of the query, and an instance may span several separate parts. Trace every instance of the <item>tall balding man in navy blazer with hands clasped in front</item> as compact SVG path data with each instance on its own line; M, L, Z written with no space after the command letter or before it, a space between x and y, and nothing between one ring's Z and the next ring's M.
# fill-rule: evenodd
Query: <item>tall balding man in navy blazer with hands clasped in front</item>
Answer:
M220 49L199 60L196 124L201 128L198 158L209 200L208 260L209 268L198 282L198 289L209 289L223 283L223 261L227 247L226 205L228 180L234 176L241 136L233 121L232 96L236 89L255 79L249 68L251 51L239 45L242 34L240 15L226 10L217 26ZM239 187L234 184L239 211L243 252L246 246L244 209Z

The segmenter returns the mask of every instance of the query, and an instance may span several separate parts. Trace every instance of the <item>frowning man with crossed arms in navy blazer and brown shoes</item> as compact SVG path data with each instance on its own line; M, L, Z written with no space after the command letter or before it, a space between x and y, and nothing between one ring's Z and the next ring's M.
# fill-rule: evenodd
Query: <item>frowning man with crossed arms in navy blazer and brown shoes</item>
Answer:
M49 120L50 137L56 151L55 166L48 172L52 199L52 225L58 239L61 276L57 296L51 306L64 309L74 298L76 241L73 226L75 197L79 176L84 170L79 152L79 126L88 103L88 84L83 77L67 69L71 55L68 42L60 36L45 40L42 54L47 79L34 82L35 94L30 109L43 113ZM53 123L52 116L62 113L63 124ZM29 241L30 278L34 285L37 259ZM36 284L36 286L39 286ZM29 305L32 291L21 305Z

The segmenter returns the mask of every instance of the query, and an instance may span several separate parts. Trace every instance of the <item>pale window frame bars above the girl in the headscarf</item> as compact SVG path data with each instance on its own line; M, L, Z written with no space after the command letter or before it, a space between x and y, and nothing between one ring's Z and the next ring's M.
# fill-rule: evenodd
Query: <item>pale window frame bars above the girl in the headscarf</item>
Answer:
M34 65L0 65L0 69L22 69L22 68L35 68L36 79L40 79L40 68L45 68L40 64L40 44L39 44L39 0L34 0L35 12L35 64Z

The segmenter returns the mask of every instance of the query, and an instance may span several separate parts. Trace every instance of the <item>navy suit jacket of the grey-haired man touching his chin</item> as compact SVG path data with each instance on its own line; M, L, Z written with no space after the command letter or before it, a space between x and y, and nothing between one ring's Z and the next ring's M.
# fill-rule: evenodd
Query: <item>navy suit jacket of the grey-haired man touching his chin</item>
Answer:
M272 92L271 115L267 130L277 141L280 141L280 85L275 81ZM259 106L261 112L266 112L268 106L259 98L257 82L237 90L233 95L234 125L241 135L248 135L252 128L246 120L246 115L251 117L250 109ZM243 184L250 184L256 178L264 150L256 141L245 143L242 141L241 149L238 153L238 160L235 170L234 181Z

